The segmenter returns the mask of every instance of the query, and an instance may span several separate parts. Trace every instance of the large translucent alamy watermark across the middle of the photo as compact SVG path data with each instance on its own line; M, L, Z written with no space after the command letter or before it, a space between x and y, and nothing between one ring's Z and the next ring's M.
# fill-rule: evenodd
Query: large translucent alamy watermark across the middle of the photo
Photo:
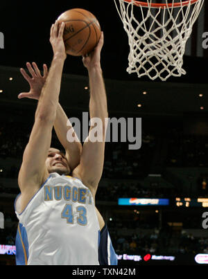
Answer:
M130 143L129 150L139 150L141 148L141 118L105 118L103 123L100 118L92 118L89 120L88 112L83 112L83 122L78 118L69 118L67 126L73 127L78 139L73 134L73 129L67 132L67 141L73 143L80 141L81 133L83 141L91 141L92 143ZM81 126L83 126L81 131ZM92 127L89 132L89 127ZM103 134L105 132L105 139ZM89 137L88 137L89 134Z

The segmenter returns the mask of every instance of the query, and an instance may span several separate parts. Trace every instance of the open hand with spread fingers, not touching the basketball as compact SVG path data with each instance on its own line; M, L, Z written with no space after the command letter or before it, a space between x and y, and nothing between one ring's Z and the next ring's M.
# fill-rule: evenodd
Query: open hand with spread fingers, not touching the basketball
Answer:
M29 92L21 92L18 98L30 98L39 100L42 88L44 87L48 75L48 68L46 64L43 65L44 73L42 75L35 62L33 62L33 66L31 65L31 63L26 63L26 66L28 68L28 71L31 73L31 76L29 76L22 68L20 69L20 71L28 84L30 84L31 89Z

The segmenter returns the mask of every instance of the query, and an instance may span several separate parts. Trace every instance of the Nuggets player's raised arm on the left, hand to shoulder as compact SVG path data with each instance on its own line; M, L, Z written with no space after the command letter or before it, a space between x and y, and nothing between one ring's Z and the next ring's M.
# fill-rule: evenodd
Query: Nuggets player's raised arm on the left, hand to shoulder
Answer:
M51 145L53 124L58 107L60 84L65 53L62 34L64 24L58 30L58 22L51 27L50 42L53 47L53 61L35 112L35 124L26 146L19 171L19 188L23 196L33 195L48 175L45 161Z

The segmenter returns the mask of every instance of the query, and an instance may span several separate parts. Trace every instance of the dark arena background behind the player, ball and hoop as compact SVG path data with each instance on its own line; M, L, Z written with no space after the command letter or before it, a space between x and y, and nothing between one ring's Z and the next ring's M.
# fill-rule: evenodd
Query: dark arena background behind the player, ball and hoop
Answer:
M208 49L202 49L202 33L208 32L207 4L187 43L187 75L161 82L126 72L128 37L112 0L1 3L0 32L5 40L0 49L0 212L5 217L5 228L0 229L1 265L15 265L15 247L10 246L15 246L17 230L17 175L37 107L35 100L17 99L29 89L19 68L33 61L50 66L51 24L71 8L94 13L104 32L101 64L110 118L142 118L140 150L128 150L128 143L106 144L96 195L119 265L196 265L200 264L196 255L206 257L202 214L208 210L198 199L208 198ZM68 56L60 93L67 116L82 119L83 111L88 111L88 85L81 57ZM59 146L54 133L53 144ZM121 206L119 198L137 198L137 205ZM141 206L144 199L148 204ZM150 199L156 204L150 205ZM168 205L160 206L160 199L168 199Z

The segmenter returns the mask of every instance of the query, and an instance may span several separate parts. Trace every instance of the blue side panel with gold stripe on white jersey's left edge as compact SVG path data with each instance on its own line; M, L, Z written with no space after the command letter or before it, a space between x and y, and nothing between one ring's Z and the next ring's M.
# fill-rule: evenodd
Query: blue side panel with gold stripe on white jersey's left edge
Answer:
M17 228L17 235L15 240L16 245L16 264L17 265L27 265L28 263L28 236L26 233L26 228L19 223Z

